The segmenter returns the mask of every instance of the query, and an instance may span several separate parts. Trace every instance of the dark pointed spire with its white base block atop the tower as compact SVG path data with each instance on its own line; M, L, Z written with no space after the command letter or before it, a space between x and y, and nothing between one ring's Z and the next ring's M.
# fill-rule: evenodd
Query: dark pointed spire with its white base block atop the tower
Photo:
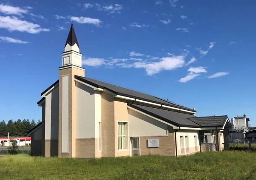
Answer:
M71 23L68 38L65 43L65 50L62 53L62 66L67 65L82 67L82 54L80 53L73 23Z

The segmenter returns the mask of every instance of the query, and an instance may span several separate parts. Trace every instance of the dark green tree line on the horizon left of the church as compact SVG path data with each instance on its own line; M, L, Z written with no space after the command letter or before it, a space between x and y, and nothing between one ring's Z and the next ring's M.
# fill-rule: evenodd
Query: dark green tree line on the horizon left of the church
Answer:
M29 119L18 119L17 121L13 121L12 119L5 123L5 121L0 122L0 137L8 137L8 132L10 137L26 137L27 132L39 124L41 121L39 120L37 123L34 119L29 121Z

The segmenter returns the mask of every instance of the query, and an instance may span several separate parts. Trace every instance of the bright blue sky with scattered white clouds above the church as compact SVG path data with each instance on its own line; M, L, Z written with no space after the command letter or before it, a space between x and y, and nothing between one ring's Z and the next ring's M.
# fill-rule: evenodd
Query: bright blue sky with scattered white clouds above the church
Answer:
M0 1L0 120L42 119L73 20L87 77L256 126L256 2Z

